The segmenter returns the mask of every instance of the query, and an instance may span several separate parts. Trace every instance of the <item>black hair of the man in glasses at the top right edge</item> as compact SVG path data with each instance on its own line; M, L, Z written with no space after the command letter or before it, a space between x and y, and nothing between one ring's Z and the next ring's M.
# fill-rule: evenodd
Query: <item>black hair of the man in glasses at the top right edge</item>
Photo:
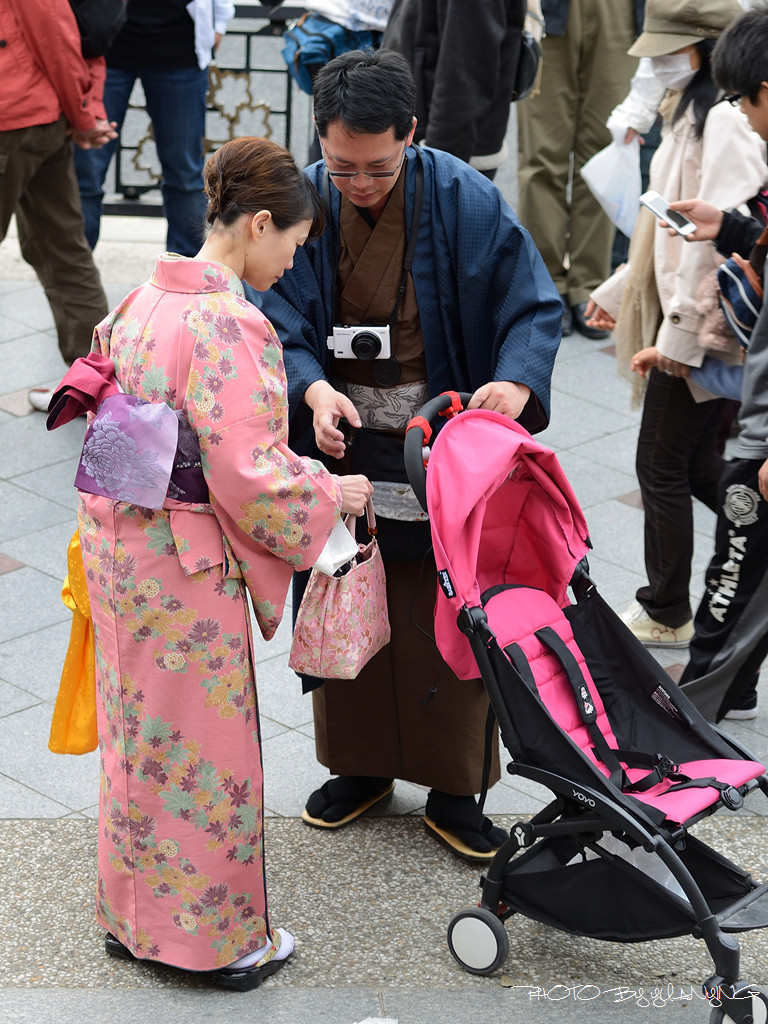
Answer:
M760 83L768 82L768 4L728 26L712 55L712 70L721 89L757 101Z

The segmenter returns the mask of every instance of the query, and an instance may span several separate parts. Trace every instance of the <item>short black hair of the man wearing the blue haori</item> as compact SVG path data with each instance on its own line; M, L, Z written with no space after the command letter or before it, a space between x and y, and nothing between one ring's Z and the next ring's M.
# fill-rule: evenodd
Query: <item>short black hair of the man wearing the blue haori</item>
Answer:
M321 138L341 121L355 134L381 135L390 128L407 137L414 123L416 86L408 60L394 50L350 50L314 77L314 121Z

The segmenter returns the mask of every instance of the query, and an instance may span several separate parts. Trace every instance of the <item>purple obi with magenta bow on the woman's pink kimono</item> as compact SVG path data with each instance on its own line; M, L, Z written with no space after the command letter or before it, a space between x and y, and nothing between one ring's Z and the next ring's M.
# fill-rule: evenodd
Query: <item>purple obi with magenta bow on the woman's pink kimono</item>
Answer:
M182 410L125 394L108 356L76 359L54 391L48 430L93 413L75 486L90 495L161 509L166 498L209 502L198 435Z

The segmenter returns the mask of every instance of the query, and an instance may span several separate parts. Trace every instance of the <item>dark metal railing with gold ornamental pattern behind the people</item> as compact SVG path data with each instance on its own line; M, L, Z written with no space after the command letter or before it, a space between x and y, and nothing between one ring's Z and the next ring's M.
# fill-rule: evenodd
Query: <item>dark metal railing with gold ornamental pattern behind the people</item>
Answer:
M303 97L281 55L286 23L300 17L303 7L242 3L227 27L216 60L210 67L204 152L210 153L240 135L273 138L301 161L307 142L308 102L305 97L299 138L295 108ZM160 161L152 121L136 83L104 185L104 214L162 216Z

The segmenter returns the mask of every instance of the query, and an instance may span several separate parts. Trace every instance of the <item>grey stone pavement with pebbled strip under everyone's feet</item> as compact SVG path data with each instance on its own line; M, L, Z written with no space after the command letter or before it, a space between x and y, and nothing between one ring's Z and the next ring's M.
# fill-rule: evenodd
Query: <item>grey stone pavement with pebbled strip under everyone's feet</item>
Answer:
M159 219L104 221L96 256L111 304L146 279L164 232ZM27 391L55 384L63 372L42 290L9 237L0 246L0 1022L237 1016L291 1024L369 1018L559 1024L683 1012L705 1021L696 986L711 966L690 938L623 946L513 919L502 971L488 978L461 971L447 951L445 927L454 912L476 902L479 872L426 834L426 794L418 786L397 783L387 806L338 835L304 826L304 800L327 773L314 759L310 701L287 667L286 627L269 644L257 641L256 657L271 915L295 932L294 957L259 991L234 995L103 954L92 915L97 757L57 757L47 749L70 630L59 591L75 528L72 481L83 427L73 423L48 434ZM552 424L542 438L558 453L584 506L593 575L617 609L644 579L634 474L638 421L610 345L565 339ZM697 506L695 522L697 598L714 517ZM684 652L660 659L676 666ZM768 756L768 701L755 722L729 728L758 757ZM487 806L509 825L544 797L505 775ZM757 795L739 815L718 815L699 833L765 878L766 813ZM742 975L768 983L763 935L743 936L741 947Z

